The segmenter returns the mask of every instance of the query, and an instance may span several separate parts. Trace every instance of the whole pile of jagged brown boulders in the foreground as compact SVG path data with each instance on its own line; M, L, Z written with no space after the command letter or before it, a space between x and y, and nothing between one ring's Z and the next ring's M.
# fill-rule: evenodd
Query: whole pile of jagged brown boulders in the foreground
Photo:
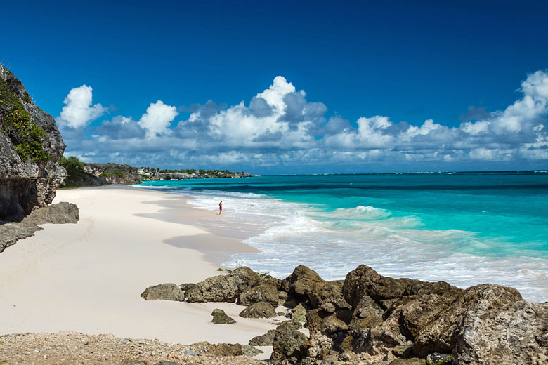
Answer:
M493 284L461 289L394 279L366 265L339 281L302 265L283 280L240 267L197 284L153 286L141 296L248 305L241 317L274 317L284 306L287 321L249 342L273 346L270 364L548 363L548 303L528 303L516 289ZM216 311L214 319L223 318Z

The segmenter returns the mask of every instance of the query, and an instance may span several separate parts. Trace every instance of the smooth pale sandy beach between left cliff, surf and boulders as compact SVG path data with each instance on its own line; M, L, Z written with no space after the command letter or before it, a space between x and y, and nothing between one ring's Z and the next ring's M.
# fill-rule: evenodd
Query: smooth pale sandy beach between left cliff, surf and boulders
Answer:
M77 331L246 344L275 328L272 319L238 317L244 307L233 303L139 296L155 284L202 281L219 274L218 264L231 253L252 250L211 227L197 227L197 220L216 213L138 187L60 190L54 202L60 201L77 204L79 223L43 225L0 254L1 334ZM212 324L214 308L237 323Z

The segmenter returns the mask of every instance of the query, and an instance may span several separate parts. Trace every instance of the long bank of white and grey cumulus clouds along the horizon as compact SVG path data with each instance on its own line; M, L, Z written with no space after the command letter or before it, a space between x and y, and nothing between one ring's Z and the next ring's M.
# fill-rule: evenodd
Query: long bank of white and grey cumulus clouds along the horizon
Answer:
M304 168L346 164L355 168L356 164L416 166L409 165L414 161L492 164L548 159L547 72L529 74L518 90L521 98L504 110L486 112L469 107L459 126L445 126L433 119L414 126L385 115L361 117L355 122L339 115L328 118L325 104L308 101L304 91L278 76L247 104L242 100L227 107L208 100L204 105L185 107L190 117L176 123L176 108L158 100L138 121L124 116L103 121L90 131L91 137L80 136L79 144L69 149L80 148L82 154L93 151L94 159L122 153L124 161L150 161L158 166ZM91 107L91 88L83 105L102 109L100 105Z

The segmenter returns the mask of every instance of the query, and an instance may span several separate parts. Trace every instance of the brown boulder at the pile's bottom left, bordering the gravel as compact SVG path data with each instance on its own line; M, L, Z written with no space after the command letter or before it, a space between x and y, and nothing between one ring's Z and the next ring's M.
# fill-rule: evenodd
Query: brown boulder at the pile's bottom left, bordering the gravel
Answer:
M290 364L296 364L297 361L306 357L308 345L308 339L304 333L299 332L291 321L285 321L276 328L270 361L273 364L279 364L287 359Z

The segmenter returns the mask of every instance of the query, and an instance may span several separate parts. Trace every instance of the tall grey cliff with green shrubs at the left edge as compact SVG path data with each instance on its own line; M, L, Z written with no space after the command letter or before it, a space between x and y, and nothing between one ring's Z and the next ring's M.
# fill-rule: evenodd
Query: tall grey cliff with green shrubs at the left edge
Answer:
M55 119L34 105L21 81L0 65L0 220L50 204L67 175Z

